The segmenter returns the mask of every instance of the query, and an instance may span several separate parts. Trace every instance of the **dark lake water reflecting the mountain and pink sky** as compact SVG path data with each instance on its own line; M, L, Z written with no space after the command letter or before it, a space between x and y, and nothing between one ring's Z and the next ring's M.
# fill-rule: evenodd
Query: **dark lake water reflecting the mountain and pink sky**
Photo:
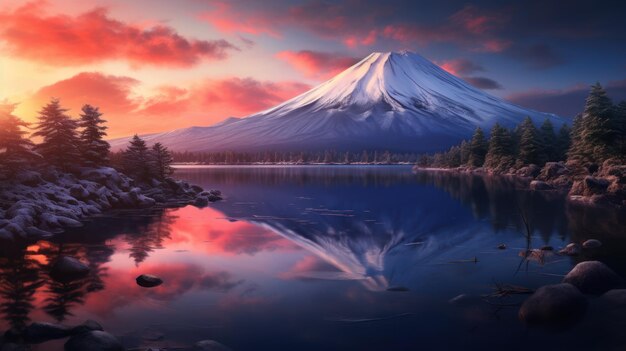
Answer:
M186 168L177 176L226 200L119 213L49 242L2 248L0 328L94 319L127 347L213 339L235 351L626 347L626 318L597 312L593 299L581 323L555 333L519 322L515 304L526 296L481 298L497 284L557 283L581 260L626 276L623 213L572 207L511 179L402 166ZM577 258L519 256L588 238L604 245ZM92 274L48 279L60 255L88 262ZM142 273L165 283L140 288Z

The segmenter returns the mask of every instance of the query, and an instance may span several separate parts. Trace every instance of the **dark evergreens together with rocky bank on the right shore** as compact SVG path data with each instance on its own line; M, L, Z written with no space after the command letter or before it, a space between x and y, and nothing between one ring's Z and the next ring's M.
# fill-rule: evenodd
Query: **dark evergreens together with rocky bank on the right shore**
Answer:
M595 84L584 111L558 135L548 119L539 128L530 118L512 130L496 123L489 140L477 128L471 140L422 155L416 166L435 168L519 176L532 190L567 191L575 203L626 207L626 101L614 105Z

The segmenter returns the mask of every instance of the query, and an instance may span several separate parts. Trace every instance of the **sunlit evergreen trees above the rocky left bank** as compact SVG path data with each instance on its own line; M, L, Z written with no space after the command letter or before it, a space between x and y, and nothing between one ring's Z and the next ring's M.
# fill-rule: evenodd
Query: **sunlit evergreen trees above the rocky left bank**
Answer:
M14 115L15 107L0 105L0 179L45 167L77 173L84 167L114 166L139 181L164 179L172 173L169 150L160 143L148 148L136 135L120 154L120 162L112 162L110 145L104 140L106 120L98 107L84 105L74 119L59 99L52 99L38 112L30 136L31 125Z

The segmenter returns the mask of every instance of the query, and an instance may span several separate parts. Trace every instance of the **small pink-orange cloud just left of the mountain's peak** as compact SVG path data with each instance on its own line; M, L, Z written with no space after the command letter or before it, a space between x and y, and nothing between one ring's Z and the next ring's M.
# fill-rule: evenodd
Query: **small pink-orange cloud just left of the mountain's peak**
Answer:
M330 78L352 66L358 59L319 51L281 51L276 57L310 78Z

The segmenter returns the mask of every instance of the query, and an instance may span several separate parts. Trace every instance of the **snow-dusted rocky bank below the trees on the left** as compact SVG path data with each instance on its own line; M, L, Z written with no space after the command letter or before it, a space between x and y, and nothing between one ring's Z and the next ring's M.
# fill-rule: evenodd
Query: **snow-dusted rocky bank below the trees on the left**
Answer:
M113 209L204 207L218 200L218 190L173 178L138 183L110 167L83 168L76 174L23 171L0 183L0 242L50 237Z

